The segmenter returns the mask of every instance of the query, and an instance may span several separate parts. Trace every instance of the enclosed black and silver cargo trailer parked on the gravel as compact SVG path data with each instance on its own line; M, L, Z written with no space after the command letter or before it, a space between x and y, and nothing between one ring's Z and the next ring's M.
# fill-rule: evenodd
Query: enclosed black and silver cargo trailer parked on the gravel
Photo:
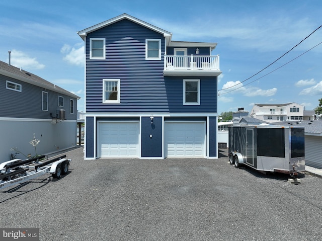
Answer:
M296 126L229 127L229 162L258 171L287 173L305 171L304 128Z

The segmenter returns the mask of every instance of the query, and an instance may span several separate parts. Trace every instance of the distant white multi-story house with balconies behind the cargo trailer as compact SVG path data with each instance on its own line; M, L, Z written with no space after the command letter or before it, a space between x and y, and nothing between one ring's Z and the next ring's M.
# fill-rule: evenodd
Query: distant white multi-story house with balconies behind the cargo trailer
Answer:
M250 117L266 122L304 120L303 105L295 102L286 104L255 104Z

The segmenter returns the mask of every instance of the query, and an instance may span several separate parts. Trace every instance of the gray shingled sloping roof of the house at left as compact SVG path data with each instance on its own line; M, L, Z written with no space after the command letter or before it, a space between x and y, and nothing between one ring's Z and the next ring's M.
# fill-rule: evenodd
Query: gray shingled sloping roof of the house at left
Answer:
M19 81L34 85L34 86L39 86L41 88L45 88L47 90L51 90L60 94L67 95L69 97L73 97L76 99L81 99L81 97L70 93L69 91L66 91L59 86L56 86L45 79L39 77L38 75L35 75L33 73L30 73L24 69L17 68L13 65L9 65L8 63L5 63L3 61L0 61L0 74L18 79Z

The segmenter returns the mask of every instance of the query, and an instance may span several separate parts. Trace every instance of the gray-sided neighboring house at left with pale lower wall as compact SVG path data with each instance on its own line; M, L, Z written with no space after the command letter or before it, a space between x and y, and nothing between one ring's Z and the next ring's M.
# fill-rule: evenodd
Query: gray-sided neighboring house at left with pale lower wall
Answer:
M76 145L78 96L0 61L0 163L16 154L48 154ZM17 158L26 159L19 153Z

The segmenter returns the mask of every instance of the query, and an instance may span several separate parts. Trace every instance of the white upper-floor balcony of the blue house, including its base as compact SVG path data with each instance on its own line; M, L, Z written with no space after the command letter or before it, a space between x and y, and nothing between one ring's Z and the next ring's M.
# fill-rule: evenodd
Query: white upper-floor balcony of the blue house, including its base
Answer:
M165 56L165 76L218 76L219 55Z

